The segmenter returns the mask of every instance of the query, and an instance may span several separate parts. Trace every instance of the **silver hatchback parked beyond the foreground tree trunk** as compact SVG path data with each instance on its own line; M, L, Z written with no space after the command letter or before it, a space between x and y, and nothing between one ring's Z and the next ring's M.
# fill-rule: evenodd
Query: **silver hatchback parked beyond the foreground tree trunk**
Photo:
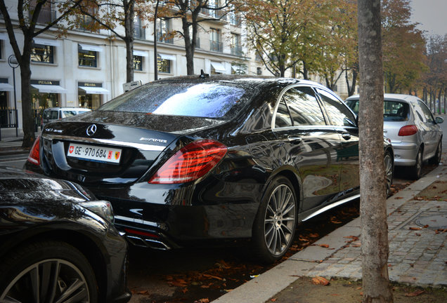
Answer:
M358 114L358 95L346 104ZM434 118L420 98L413 95L384 94L384 135L394 147L394 165L408 166L413 179L419 179L422 162L441 161L441 117Z

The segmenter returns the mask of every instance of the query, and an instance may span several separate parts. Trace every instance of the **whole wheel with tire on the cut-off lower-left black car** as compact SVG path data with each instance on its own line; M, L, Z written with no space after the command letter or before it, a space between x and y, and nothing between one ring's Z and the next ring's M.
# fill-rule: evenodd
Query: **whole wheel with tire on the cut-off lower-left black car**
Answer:
M22 245L1 258L0 272L0 302L98 302L91 265L64 242Z

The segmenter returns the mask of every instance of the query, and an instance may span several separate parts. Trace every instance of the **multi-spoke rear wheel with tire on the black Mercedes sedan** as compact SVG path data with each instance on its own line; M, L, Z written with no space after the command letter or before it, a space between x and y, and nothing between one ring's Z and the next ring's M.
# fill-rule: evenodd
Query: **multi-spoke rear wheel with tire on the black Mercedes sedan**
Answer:
M290 180L283 176L273 179L254 220L252 242L259 261L276 262L287 253L297 226L297 206Z

